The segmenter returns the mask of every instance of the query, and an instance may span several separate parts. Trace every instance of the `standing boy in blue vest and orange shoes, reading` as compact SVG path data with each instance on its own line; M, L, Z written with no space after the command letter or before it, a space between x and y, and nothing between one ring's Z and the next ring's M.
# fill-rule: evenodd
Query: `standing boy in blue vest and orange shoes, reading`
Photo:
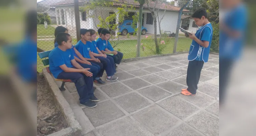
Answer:
M197 84L200 79L204 63L208 62L210 47L213 37L212 24L207 19L207 12L198 8L192 15L196 24L200 27L196 34L189 34L193 39L188 53L187 89L182 89L183 95L196 95Z

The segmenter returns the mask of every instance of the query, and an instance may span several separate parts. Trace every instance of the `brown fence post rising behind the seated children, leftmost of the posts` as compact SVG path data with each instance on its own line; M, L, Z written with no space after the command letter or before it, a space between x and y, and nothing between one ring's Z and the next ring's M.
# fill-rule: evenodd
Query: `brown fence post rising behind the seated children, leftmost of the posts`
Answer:
M76 31L77 31L77 41L79 41L80 38L80 13L79 13L79 1L74 0L74 8L75 8L75 20L76 20Z

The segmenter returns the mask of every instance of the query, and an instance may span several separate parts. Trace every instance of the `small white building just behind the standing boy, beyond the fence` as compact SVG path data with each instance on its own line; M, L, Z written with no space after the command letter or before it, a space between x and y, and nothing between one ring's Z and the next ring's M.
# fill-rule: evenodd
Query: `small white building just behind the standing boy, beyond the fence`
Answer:
M192 33L196 33L198 30L198 26L194 21L194 19L191 18L191 16L185 16L185 15L181 16L180 27ZM179 33L183 33L183 32L179 32Z

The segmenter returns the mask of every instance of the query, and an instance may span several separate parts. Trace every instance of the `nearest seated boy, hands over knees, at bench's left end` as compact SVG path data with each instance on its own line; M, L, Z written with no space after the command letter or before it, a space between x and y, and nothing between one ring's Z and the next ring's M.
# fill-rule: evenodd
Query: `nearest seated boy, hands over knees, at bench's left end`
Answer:
M56 36L58 47L49 54L50 71L56 79L70 79L75 83L79 94L80 105L94 108L99 101L93 94L93 78L89 68L84 69L74 59L71 52L72 39L67 33Z

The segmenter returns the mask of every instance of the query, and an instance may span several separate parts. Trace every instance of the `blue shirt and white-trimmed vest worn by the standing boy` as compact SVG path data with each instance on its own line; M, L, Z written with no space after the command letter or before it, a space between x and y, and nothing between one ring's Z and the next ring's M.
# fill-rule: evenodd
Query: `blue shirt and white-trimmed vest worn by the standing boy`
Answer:
M209 41L209 46L207 48L199 45L195 40L192 40L192 44L190 45L188 60L193 61L203 61L208 62L208 57L210 53L212 38L213 38L213 28L212 24L208 23L202 27L200 27L196 32L196 37L202 41Z

